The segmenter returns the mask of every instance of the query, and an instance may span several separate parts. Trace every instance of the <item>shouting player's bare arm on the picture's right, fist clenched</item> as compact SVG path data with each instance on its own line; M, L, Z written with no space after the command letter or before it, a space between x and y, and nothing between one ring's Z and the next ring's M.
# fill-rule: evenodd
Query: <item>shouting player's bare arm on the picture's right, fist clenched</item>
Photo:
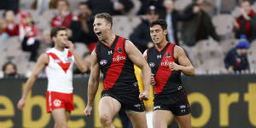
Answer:
M151 69L150 67L148 67L147 61L145 61L145 59L143 58L143 54L129 40L126 40L125 42L125 51L131 61L133 61L133 63L136 64L137 67L142 69L144 91L147 91L146 93L149 93ZM145 99L147 98L148 96L145 97Z

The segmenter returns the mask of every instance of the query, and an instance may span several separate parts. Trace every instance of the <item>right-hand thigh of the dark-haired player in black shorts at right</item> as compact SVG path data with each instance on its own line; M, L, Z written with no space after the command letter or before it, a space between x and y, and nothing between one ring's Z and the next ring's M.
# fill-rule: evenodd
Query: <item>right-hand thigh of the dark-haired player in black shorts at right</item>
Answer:
M183 116L175 116L179 128L191 128L191 113Z

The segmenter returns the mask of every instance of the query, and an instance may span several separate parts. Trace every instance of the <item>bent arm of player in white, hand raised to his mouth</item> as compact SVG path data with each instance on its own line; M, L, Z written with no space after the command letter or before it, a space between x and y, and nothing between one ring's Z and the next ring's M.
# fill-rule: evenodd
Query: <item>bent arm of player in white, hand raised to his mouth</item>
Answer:
M75 59L75 64L79 68L79 70L84 73L88 69L86 67L85 62L80 58L80 56L77 54L77 52L74 50L73 43L71 41L68 41L67 47L69 48L70 52L73 54L73 57Z

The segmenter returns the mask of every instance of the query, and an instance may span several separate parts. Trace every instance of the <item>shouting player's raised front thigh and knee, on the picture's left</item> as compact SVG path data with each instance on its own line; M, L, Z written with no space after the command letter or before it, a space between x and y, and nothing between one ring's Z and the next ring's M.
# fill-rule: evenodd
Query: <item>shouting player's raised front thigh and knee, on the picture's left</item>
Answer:
M111 96L103 96L99 103L99 114L102 128L114 128L112 119L119 109L121 108L120 102Z

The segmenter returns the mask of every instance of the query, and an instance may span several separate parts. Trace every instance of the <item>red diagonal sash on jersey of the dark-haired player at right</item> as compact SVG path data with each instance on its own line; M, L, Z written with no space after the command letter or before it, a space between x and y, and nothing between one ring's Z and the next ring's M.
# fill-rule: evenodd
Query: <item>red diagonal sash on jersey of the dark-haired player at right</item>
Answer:
M162 59L160 61L160 65L158 68L157 73L155 74L155 86L154 86L154 93L159 94L165 87L166 82L170 78L172 74L172 70L169 67L169 62L174 62L175 59L173 57L173 47L175 44L170 44L169 47L166 49L165 54L162 56ZM171 54L170 57L166 57L167 53ZM162 66L161 64L167 64L166 66Z

